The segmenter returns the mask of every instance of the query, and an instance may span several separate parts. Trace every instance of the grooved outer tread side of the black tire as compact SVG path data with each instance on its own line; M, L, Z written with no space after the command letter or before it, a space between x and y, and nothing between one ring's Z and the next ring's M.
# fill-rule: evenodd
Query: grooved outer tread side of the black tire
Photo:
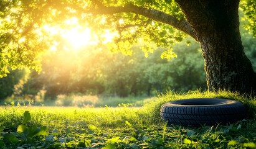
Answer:
M236 106L170 106L163 104L160 109L161 117L169 124L181 125L214 125L235 122L245 118L243 104Z

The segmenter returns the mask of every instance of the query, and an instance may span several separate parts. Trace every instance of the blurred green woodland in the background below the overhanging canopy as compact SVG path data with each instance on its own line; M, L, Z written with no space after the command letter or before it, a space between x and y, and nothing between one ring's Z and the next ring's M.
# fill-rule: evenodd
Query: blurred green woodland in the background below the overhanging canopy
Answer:
M244 51L256 70L256 38L243 24L246 20L240 17ZM71 45L63 37L59 37L59 43L56 50L41 55L40 73L10 70L9 75L0 79L1 104L57 101L74 96L92 102L99 96L153 97L169 90L184 93L207 89L201 48L192 38L173 45L177 58L169 60L161 58L165 49L145 53L139 44L133 45L133 53L123 55L93 45L69 50ZM70 102L60 105L73 106Z

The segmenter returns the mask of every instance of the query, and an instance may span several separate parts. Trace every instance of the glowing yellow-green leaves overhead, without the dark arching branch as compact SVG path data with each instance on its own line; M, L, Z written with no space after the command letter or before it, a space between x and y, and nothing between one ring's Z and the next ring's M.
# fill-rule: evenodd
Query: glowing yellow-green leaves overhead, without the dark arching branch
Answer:
M101 9L102 4L110 9ZM168 47L163 57L169 57L171 46L183 40L186 35L179 29L167 25L168 21L152 19L136 12L111 14L124 6L143 7L145 10L155 10L167 14L176 21L184 20L184 14L175 1L1 1L0 6L0 77L6 76L9 69L33 68L40 70L40 53L45 52L58 38L52 35L47 27L71 29L72 25L64 22L77 18L82 26L90 27L102 45L105 40L101 35L106 30L116 34L114 42L108 43L111 50L130 53L133 43L143 43L142 49L147 54L158 47ZM120 6L120 7L118 7ZM255 35L255 0L242 1L246 19L249 20L247 29ZM111 9L114 8L114 9ZM102 12L103 11L103 12ZM162 22L161 22L162 21ZM167 22L166 22L167 21ZM176 27L177 28L177 27ZM112 42L113 43L113 42ZM99 46L101 46L99 45Z

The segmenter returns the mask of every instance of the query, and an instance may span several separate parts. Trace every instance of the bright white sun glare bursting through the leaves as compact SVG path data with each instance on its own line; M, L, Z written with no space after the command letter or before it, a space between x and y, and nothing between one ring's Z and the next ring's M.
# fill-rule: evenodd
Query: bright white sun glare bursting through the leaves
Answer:
M117 36L116 33L112 33L110 30L105 30L102 35L93 34L90 27L82 27L78 24L76 18L71 18L64 22L66 27L60 29L60 27L51 27L49 25L44 25L44 30L51 36L58 35L62 40L64 40L64 50L77 51L82 47L88 45L97 45L99 38L103 38L103 44L113 41L113 38ZM60 43L63 44L63 43ZM50 51L56 51L59 45L58 41L55 41Z

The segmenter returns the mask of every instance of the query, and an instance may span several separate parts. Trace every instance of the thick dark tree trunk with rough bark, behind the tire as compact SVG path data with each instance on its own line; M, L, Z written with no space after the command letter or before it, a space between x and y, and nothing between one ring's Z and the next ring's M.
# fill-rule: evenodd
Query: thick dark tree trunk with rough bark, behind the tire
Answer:
M240 93L256 91L256 75L239 32L239 0L178 1L201 43L207 86Z

